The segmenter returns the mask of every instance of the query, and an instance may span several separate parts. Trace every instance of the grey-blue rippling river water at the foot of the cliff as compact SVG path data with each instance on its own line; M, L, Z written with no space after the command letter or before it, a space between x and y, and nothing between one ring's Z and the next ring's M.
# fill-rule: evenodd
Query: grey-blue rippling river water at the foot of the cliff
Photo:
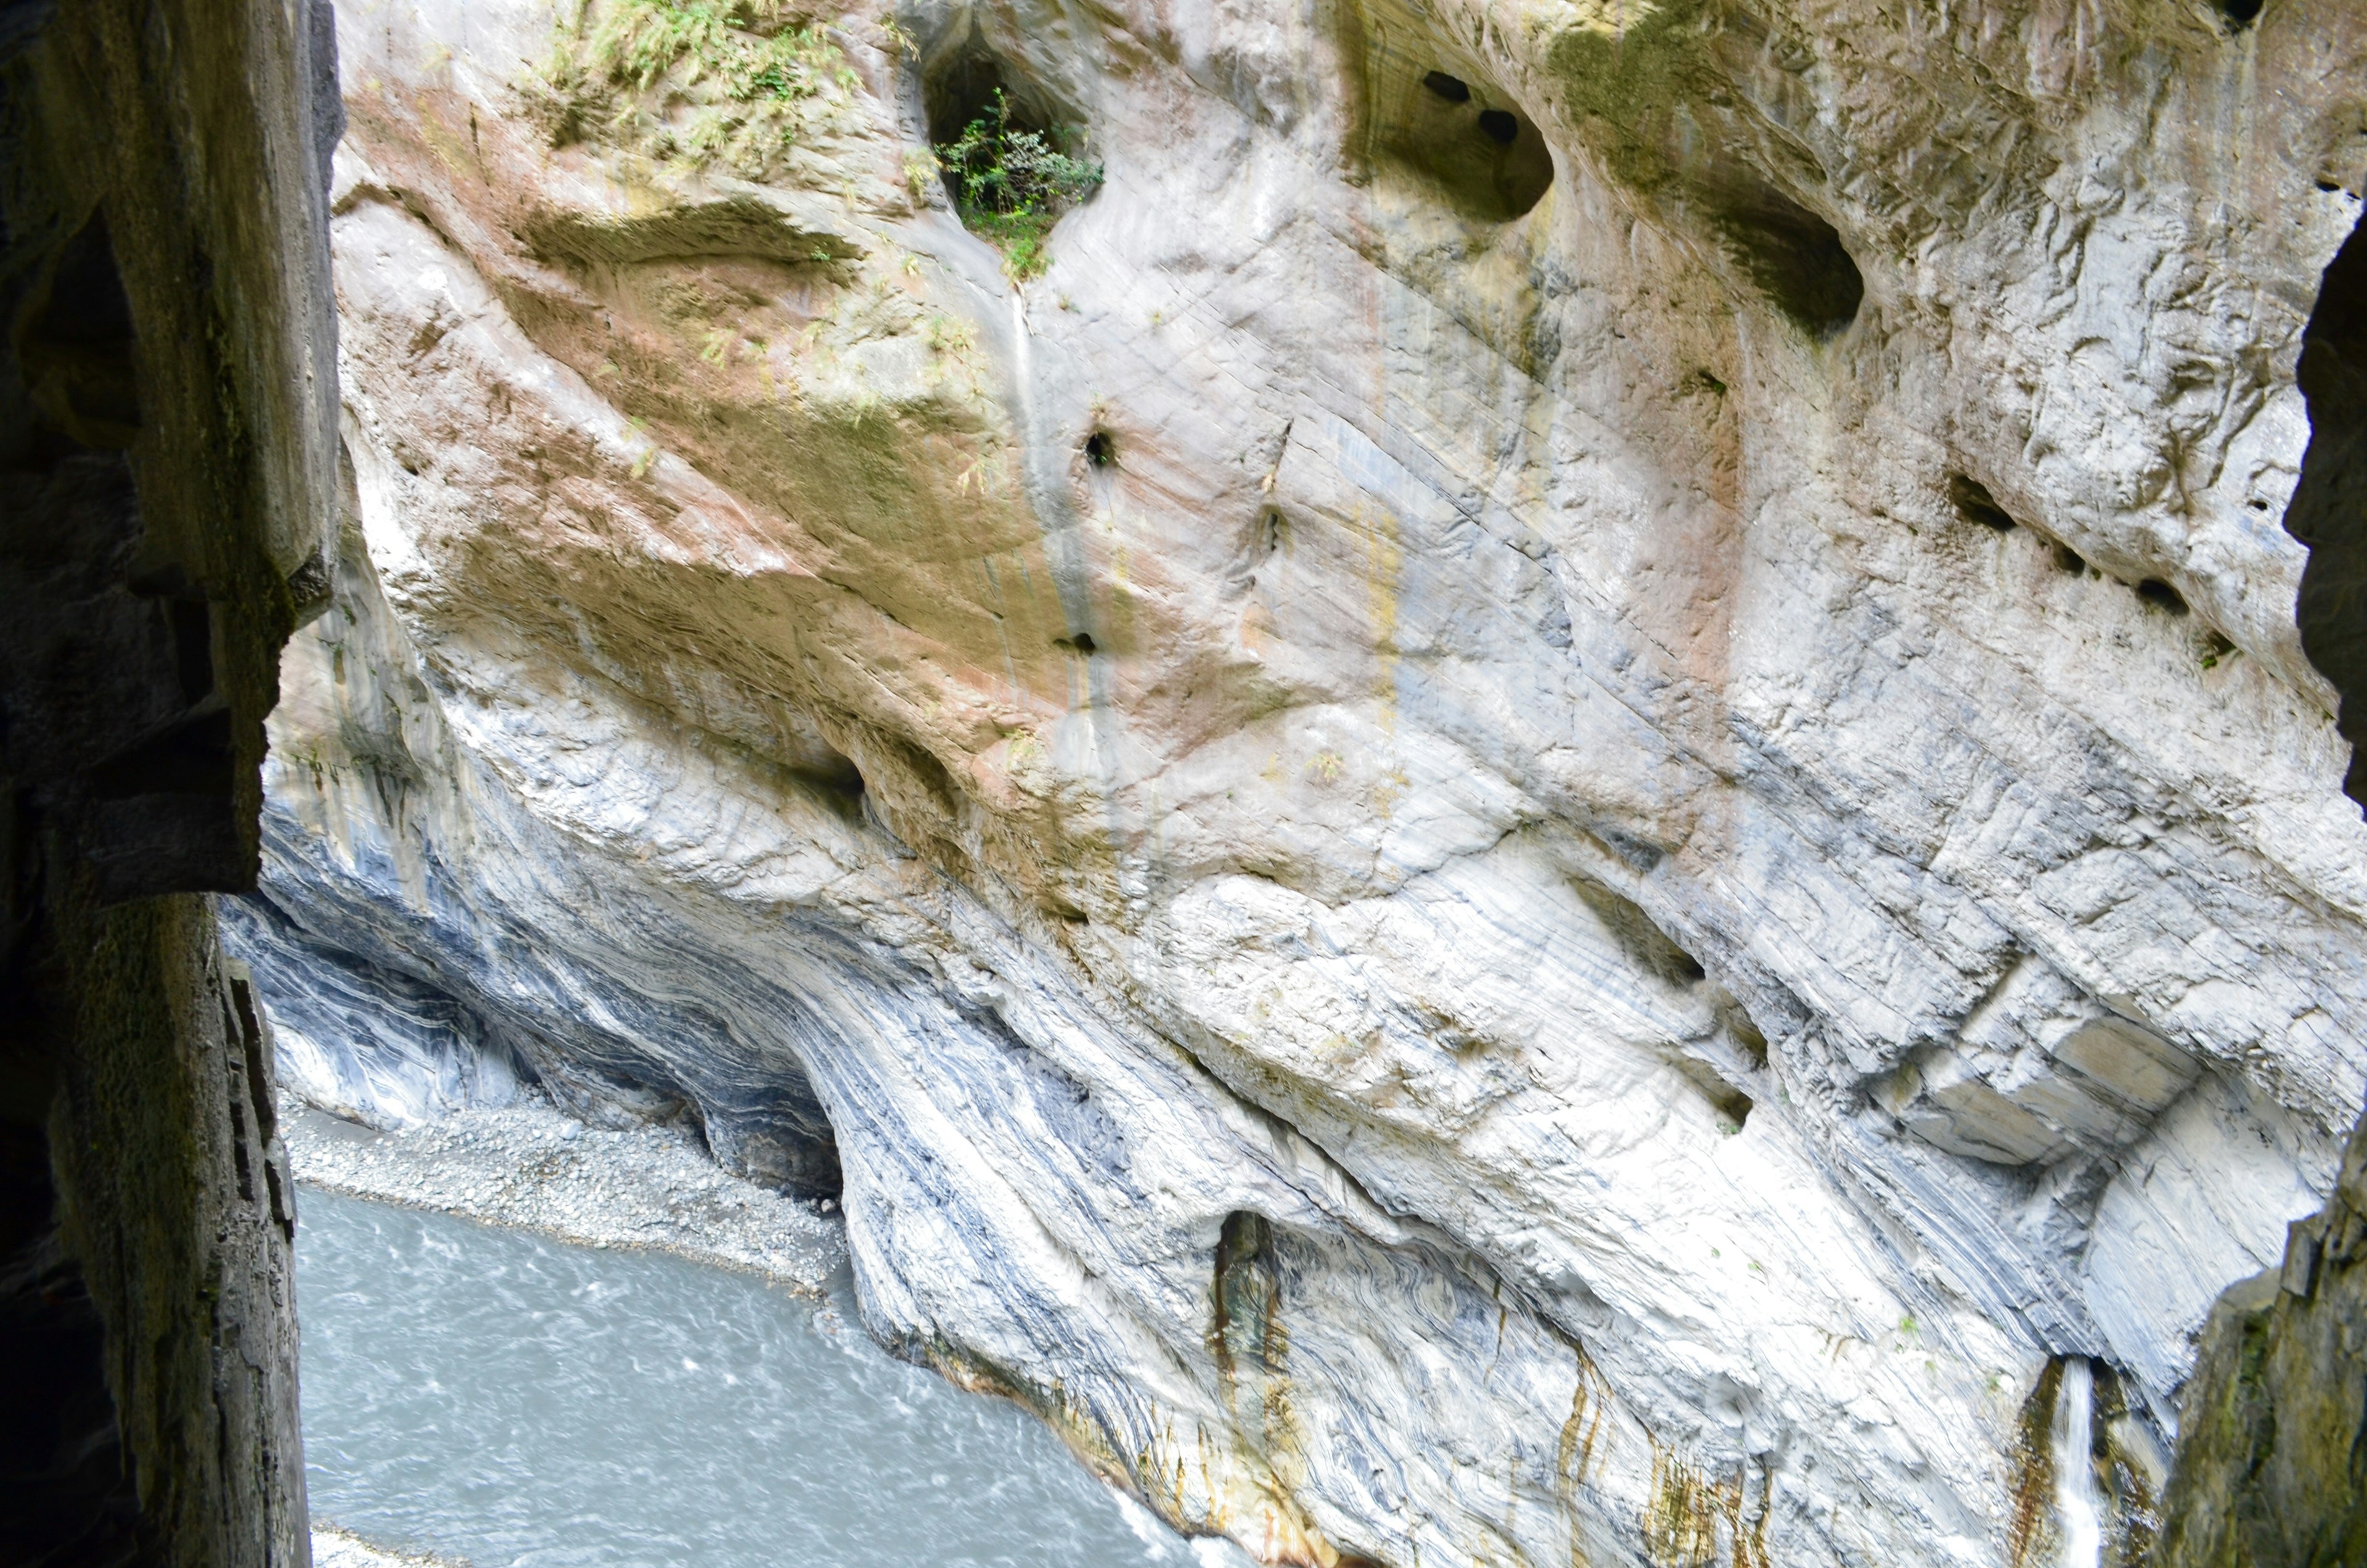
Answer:
M1245 1566L831 1307L656 1253L320 1191L296 1234L312 1514L476 1568Z

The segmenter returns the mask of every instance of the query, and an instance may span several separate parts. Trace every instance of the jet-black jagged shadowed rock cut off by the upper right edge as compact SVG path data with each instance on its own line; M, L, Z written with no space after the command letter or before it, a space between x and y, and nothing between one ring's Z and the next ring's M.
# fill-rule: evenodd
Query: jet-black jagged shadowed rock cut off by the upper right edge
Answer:
M2310 445L2284 531L2310 547L2294 618L2310 663L2343 694L2350 798L2367 801L2367 223L2327 263L2301 334Z

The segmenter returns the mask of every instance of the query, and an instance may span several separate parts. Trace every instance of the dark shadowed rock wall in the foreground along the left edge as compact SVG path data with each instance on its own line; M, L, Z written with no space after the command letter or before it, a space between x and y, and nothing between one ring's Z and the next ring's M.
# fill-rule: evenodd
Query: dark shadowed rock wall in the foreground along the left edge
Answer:
M256 876L334 507L320 0L0 0L0 1559L303 1563Z

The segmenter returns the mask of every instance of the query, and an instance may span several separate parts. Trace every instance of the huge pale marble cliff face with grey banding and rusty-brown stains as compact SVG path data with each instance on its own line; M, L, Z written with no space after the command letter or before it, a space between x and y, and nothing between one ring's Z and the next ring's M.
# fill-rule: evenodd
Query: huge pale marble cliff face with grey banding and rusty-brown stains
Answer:
M2052 1563L2066 1357L2128 1559L2367 1085L2244 9L346 7L284 1071L694 1116L1271 1561Z

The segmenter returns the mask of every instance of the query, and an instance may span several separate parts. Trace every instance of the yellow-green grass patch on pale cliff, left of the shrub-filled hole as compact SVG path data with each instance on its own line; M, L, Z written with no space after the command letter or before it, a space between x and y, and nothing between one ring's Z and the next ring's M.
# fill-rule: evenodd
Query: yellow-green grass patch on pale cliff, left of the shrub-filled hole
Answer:
M750 180L826 130L857 78L781 0L620 0L561 19L540 71L552 144L604 135L658 161Z

